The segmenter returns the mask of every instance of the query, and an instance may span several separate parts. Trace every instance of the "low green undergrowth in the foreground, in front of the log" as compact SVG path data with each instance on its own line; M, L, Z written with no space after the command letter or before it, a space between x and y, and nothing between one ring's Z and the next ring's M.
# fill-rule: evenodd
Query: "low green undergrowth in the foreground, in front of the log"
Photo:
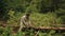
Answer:
M21 32L17 31L17 33L13 34L11 31L11 28L6 26L3 30L1 36L35 36L37 33L38 33L38 31L35 31L34 29L30 29L30 30L25 29L25 31L21 31ZM39 30L39 33L37 35L38 36L64 36L65 33L61 33L61 32L56 33L56 31L54 31L54 30L48 30L48 31Z

